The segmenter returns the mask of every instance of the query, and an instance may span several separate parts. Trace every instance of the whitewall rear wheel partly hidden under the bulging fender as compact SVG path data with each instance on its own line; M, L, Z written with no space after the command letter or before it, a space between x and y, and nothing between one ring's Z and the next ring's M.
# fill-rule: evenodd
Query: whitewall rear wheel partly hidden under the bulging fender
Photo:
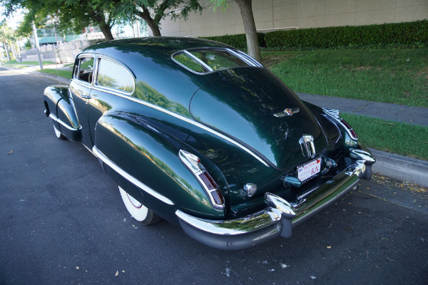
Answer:
M146 226L148 224L154 224L161 220L161 217L159 217L151 209L148 209L148 207L144 206L136 199L134 199L120 186L119 191L121 192L123 203L125 203L126 209L128 209L129 214L131 214L131 216L138 222L141 222L141 224Z

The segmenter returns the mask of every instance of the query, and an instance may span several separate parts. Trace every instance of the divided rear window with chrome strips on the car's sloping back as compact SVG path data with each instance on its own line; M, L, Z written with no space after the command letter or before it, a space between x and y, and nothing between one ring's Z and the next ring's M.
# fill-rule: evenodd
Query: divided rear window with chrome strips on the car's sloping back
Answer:
M209 73L227 68L258 66L261 64L240 51L229 48L200 48L178 51L173 60L194 73Z

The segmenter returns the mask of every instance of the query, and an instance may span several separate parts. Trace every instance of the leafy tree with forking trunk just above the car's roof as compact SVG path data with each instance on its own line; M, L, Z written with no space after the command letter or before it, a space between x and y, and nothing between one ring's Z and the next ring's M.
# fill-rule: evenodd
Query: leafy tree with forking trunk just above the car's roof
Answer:
M134 5L134 3L135 1L132 1L131 5ZM181 10L178 13L167 12L167 10L179 9L179 7ZM149 28L151 28L153 36L161 36L159 24L166 16L170 16L171 19L187 19L189 12L202 12L202 10L203 7L200 6L198 0L140 0L137 1L137 7L133 13L146 21ZM151 11L153 15L151 15Z

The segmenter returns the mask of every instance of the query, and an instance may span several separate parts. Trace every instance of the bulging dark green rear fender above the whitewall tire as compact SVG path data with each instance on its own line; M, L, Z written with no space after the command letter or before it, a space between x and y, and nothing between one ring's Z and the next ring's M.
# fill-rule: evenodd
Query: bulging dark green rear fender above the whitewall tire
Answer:
M156 214L178 222L176 209L207 219L224 219L195 176L180 160L180 150L194 152L180 141L148 124L141 116L115 112L96 124L93 152L106 172ZM227 187L217 176L215 182ZM165 209L167 209L165 211Z

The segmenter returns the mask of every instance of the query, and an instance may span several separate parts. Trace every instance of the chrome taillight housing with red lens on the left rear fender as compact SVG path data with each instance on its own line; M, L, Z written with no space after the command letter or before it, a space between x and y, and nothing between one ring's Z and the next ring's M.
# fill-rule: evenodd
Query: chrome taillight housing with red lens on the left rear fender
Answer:
M203 186L208 197L210 197L210 202L213 207L223 209L225 207L225 198L218 189L218 185L213 180L213 177L211 177L207 170L205 170L205 167L200 163L199 157L185 150L180 150L178 156L188 170L190 170L200 182L200 185Z

